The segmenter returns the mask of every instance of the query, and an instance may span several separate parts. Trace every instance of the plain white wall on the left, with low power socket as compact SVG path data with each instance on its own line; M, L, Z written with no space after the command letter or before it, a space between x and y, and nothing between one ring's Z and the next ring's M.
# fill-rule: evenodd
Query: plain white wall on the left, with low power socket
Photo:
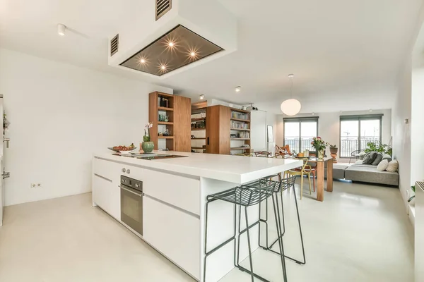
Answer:
M89 192L93 152L131 142L139 146L148 93L155 90L172 93L0 49L0 93L11 122L6 205Z

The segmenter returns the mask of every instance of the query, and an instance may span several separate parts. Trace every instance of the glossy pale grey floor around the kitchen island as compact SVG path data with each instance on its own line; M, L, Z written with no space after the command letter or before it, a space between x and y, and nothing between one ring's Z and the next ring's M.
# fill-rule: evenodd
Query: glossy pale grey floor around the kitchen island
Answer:
M289 281L413 281L413 228L396 188L334 183L324 202L307 195L300 216L307 264L287 261ZM286 195L288 255L299 257L293 195ZM98 208L91 194L6 207L0 281L194 281ZM245 261L247 263L247 261ZM283 281L278 256L254 268ZM221 281L250 281L233 270Z

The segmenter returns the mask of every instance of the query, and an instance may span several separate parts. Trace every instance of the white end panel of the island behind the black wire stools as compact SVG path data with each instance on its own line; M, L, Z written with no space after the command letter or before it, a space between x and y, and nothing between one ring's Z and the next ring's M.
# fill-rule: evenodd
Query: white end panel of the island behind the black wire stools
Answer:
M205 258L205 231L206 231L206 197L217 192L222 192L230 188L234 188L240 184L230 183L221 180L214 180L211 178L201 178L201 279L204 282L204 258ZM245 216L244 207L242 207L241 229L245 229ZM238 216L239 207L236 209L236 221L234 221L234 204L217 200L208 204L208 238L207 249L209 252L214 247L225 242L234 235L234 225L236 224L236 248L238 238ZM259 205L249 207L248 209L249 225L259 220ZM250 229L250 241L252 244L252 251L256 250L259 240L259 225ZM237 249L236 249L237 250ZM240 238L240 262L248 257L247 252L247 235L244 233ZM219 281L225 274L228 274L234 266L235 254L234 243L228 243L220 250L214 252L207 257L206 263L206 281Z

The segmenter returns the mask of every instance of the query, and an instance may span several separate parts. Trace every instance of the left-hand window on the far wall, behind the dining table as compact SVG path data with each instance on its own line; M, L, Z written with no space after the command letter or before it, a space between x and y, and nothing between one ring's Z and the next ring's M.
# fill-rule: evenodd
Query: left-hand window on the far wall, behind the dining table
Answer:
M314 151L312 138L318 135L318 118L284 118L284 145L293 152Z

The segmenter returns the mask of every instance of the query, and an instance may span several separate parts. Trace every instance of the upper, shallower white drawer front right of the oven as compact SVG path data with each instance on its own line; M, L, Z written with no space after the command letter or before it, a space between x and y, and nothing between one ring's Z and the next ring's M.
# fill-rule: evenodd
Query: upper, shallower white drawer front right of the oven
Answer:
M148 169L143 172L146 195L200 215L200 180Z

